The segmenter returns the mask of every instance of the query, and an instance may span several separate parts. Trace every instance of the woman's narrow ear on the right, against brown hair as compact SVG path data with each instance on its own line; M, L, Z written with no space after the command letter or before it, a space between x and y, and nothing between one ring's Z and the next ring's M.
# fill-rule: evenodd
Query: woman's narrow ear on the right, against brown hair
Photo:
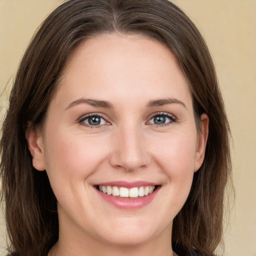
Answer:
M194 171L197 171L203 162L204 154L205 154L205 147L208 138L208 131L209 131L209 117L207 114L203 113L201 115L201 125L200 131L197 135L197 148L194 155Z

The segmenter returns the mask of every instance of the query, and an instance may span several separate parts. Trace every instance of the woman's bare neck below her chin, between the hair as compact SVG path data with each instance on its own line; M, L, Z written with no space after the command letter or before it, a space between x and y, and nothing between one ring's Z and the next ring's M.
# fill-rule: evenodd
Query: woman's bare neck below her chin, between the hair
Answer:
M160 236L135 245L110 244L73 232L60 233L48 256L177 256L171 248L170 233L170 229L165 230ZM75 234L75 239L72 234Z

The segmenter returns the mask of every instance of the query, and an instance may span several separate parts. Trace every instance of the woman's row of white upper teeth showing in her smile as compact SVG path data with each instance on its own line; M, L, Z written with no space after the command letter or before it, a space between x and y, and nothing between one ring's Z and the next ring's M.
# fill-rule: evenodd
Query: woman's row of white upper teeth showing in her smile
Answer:
M120 197L138 197L148 195L153 192L154 186L139 186L139 187L118 187L118 186L98 186L98 190L105 194L112 194Z

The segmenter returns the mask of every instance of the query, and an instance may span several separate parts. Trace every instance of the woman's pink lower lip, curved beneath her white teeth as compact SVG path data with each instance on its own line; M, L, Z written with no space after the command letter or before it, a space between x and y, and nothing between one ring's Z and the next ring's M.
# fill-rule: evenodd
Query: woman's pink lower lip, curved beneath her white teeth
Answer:
M105 201L111 203L112 205L119 209L138 209L142 208L143 206L151 202L155 197L156 193L158 192L159 188L160 186L157 186L151 194L136 198L120 198L114 195L108 195L103 192L100 192L99 190L97 190L97 188L95 189L101 196L101 198L103 198Z

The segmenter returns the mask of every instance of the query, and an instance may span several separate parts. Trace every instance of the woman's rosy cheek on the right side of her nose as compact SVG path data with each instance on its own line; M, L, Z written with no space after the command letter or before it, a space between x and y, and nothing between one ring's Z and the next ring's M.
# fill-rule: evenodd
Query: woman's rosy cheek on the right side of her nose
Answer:
M154 145L151 150L157 165L168 176L171 194L184 201L194 173L196 132L173 132L165 138L158 137Z

